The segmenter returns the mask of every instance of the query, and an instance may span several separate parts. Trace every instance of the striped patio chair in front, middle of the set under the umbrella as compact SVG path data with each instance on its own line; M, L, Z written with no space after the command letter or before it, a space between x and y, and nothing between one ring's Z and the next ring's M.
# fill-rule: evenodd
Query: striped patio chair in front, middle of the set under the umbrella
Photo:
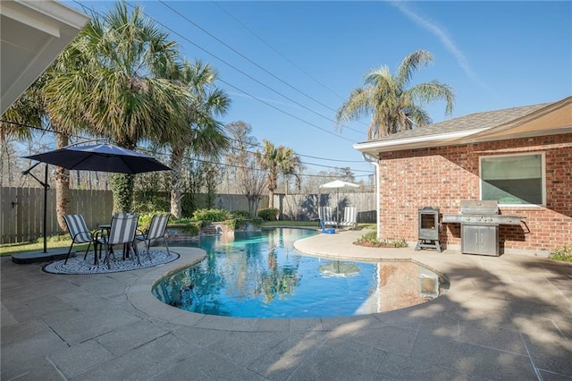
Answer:
M111 256L114 255L114 245L123 245L123 258L125 259L130 250L133 250L137 263L140 265L139 251L135 244L135 233L139 215L136 213L116 213L111 220L109 230L101 229L96 235L96 242L105 247L104 263L111 268ZM101 252L101 247L99 248ZM97 257L96 257L97 258Z

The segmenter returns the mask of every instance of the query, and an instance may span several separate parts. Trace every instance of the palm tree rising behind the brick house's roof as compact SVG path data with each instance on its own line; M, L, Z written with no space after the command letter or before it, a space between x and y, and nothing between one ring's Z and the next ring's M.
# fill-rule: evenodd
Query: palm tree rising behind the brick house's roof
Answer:
M433 63L433 55L417 50L400 63L392 74L387 66L374 69L365 75L365 86L354 89L348 100L338 109L336 122L358 120L371 115L367 140L422 127L432 123L422 104L435 100L446 102L446 114L451 114L454 95L450 86L432 80L408 87L413 72L421 66Z

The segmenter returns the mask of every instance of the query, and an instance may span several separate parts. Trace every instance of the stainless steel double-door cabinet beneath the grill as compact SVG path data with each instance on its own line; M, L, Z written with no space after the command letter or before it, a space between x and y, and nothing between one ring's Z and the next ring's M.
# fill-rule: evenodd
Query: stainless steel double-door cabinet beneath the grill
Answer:
M499 255L499 227L495 225L461 224L463 254Z

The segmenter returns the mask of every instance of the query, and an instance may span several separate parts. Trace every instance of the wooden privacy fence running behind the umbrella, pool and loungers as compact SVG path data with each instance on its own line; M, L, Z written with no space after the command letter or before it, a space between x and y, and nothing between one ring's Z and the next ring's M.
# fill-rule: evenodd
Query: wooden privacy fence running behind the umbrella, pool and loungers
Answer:
M63 233L55 216L55 190L47 190L46 234ZM71 190L70 210L81 214L88 227L107 224L114 208L111 190ZM198 204L205 201L199 195ZM311 221L318 218L318 207L330 206L336 211L336 193L309 195L275 195L274 207L280 209L281 218ZM34 241L43 235L44 189L0 187L0 243ZM248 210L248 200L243 195L216 195L214 207L226 210ZM260 201L260 208L268 207L268 197ZM374 193L340 193L340 213L343 207L357 207L357 222L375 222Z

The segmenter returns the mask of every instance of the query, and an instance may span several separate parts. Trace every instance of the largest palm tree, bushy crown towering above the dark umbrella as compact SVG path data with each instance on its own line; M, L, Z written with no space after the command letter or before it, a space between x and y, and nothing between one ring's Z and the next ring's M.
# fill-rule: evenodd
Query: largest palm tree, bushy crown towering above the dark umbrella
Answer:
M94 16L64 59L68 70L53 72L46 89L50 114L62 126L80 124L130 149L186 132L175 123L189 103L188 91L172 80L181 71L179 51L139 6L130 13L118 3L102 18ZM132 175L114 175L116 211L130 210L133 186Z

